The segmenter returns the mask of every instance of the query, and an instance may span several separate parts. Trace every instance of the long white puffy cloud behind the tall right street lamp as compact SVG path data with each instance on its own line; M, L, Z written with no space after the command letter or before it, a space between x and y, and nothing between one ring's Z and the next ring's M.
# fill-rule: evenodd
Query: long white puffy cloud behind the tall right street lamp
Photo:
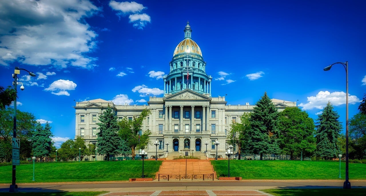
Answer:
M323 109L328 101L335 106L346 104L346 93L345 92L332 92L329 91L320 91L316 96L307 97L307 103L300 103L299 107L303 107L302 109ZM348 95L348 103L356 104L361 100L354 95Z

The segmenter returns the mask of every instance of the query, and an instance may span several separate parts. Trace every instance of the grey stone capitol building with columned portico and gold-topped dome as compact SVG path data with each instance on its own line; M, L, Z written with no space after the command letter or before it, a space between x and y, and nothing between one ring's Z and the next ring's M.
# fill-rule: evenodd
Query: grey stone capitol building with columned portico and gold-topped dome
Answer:
M191 32L187 22L183 41L173 49L169 74L163 77L162 97L149 97L147 105L116 105L103 99L76 102L75 138L81 136L86 145L96 144L99 131L96 123L108 105L119 120L132 119L147 108L150 115L146 117L141 132L152 132L150 142L144 149L148 157L156 153L153 144L155 141L159 143L157 153L163 157L167 156L167 151L194 156L206 154L209 157L217 153L224 157L228 148L227 141L230 140L227 135L231 124L240 123L240 116L244 112L253 111L255 105L230 105L225 97L212 97L212 76L206 73L207 65L202 51L191 38ZM278 111L296 107L296 102L293 101L272 99L272 102ZM217 148L214 141L220 142ZM234 153L238 151L235 145L233 150ZM97 160L102 158L102 155L98 155ZM89 160L92 159L95 159L95 155L89 157Z

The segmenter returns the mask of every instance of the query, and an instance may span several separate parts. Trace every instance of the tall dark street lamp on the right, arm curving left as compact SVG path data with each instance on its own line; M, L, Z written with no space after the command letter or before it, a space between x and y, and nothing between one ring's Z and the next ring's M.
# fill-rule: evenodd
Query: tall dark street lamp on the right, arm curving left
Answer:
M341 64L343 65L344 69L346 70L346 181L343 182L343 188L344 189L350 189L351 188L351 182L349 181L348 177L348 61L346 62L336 62L332 65L327 66L324 68L324 71L329 71L330 68L332 68L335 64Z

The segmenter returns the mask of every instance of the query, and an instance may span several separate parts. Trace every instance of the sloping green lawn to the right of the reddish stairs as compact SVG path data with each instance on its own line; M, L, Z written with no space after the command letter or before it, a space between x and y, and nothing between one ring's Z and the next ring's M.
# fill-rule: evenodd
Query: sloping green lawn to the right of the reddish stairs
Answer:
M228 175L228 160L211 161L217 177ZM341 162L341 179L345 179L346 163ZM349 164L350 180L366 179L366 164ZM339 162L331 161L259 161L230 160L230 176L244 179L337 180Z

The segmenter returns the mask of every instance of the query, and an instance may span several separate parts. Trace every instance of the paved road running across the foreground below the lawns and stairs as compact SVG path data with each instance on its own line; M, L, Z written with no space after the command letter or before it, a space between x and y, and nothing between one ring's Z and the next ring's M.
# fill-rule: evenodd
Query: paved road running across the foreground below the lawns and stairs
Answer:
M352 188L366 188L366 181L351 181ZM341 188L343 181L170 181L170 182L93 182L65 184L19 184L19 192L56 191L176 191L176 190L258 190L269 188ZM0 185L8 192L9 185Z

